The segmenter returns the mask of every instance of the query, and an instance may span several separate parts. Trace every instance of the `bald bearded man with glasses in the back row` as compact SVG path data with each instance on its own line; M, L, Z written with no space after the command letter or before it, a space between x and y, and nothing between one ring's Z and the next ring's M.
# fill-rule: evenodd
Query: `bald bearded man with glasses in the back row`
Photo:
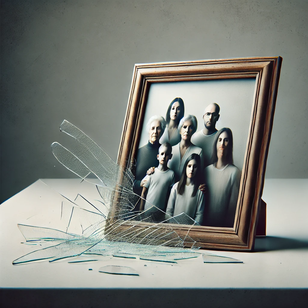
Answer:
M204 167L212 164L211 156L215 135L217 133L216 122L219 119L220 107L216 103L211 103L205 108L203 120L204 128L193 134L191 142L203 150Z

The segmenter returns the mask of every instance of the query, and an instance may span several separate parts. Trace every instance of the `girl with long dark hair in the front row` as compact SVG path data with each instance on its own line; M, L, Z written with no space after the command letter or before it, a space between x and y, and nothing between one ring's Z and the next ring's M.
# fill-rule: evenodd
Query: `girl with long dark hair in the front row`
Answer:
M191 154L185 161L179 182L173 185L166 213L172 217L185 213L201 225L205 197L199 188L202 182L201 158Z

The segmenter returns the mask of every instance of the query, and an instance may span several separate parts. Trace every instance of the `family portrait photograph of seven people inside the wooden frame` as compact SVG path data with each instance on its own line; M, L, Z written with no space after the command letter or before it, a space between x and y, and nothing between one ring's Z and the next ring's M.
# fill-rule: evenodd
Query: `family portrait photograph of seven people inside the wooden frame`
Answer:
M196 225L233 227L255 83L151 84L136 156L140 211L154 206Z

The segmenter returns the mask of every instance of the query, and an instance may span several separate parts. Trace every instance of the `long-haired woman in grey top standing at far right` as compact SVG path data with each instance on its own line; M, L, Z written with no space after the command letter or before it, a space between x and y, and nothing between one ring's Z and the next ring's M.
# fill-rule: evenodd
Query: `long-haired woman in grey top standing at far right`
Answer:
M212 164L204 169L207 185L203 225L232 228L240 188L241 172L233 165L233 136L230 128L216 133Z

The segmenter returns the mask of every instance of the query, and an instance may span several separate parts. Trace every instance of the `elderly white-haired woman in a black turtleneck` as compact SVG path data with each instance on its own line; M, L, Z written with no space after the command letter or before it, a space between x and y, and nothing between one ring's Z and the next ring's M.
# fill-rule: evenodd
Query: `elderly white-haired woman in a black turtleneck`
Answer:
M136 172L134 181L134 191L140 195L142 187L140 187L141 180L146 175L150 167L157 167L159 161L157 160L158 149L160 147L159 138L164 133L166 121L161 115L153 115L146 125L148 132L148 143L138 149L136 159Z

